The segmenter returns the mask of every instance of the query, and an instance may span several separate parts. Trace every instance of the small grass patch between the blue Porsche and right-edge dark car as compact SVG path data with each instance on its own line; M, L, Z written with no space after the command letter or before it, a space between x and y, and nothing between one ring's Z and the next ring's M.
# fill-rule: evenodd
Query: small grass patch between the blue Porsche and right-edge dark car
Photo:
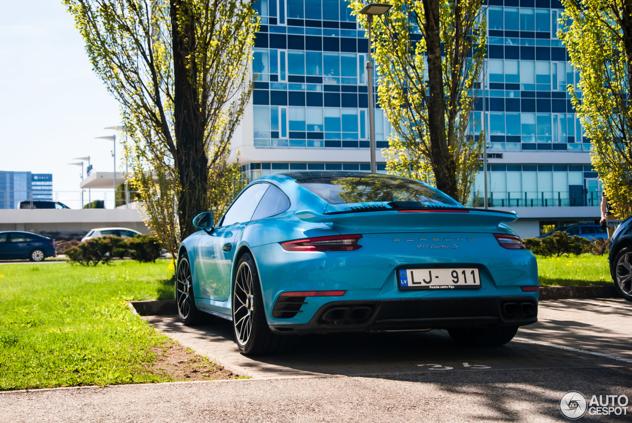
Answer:
M612 284L607 254L536 258L540 285L564 287Z

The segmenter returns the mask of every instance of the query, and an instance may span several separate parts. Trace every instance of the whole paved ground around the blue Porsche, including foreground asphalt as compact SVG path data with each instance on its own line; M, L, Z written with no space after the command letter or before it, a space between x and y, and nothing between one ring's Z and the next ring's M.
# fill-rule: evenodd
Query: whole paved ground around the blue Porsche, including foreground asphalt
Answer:
M568 391L632 400L631 318L616 299L545 301L537 324L496 349L458 348L443 331L318 335L258 360L233 355L229 323L149 318L254 378L2 393L0 422L568 421ZM628 408L577 421L630 421Z

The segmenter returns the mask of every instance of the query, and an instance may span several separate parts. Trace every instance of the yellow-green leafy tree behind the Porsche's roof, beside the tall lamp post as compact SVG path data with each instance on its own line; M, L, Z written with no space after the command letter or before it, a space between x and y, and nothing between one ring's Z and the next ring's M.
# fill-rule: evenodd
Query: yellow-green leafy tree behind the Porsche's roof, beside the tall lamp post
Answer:
M384 150L392 174L469 198L482 141L471 133L485 49L480 0L396 0L372 25L380 107L394 134ZM363 4L352 0L367 27Z

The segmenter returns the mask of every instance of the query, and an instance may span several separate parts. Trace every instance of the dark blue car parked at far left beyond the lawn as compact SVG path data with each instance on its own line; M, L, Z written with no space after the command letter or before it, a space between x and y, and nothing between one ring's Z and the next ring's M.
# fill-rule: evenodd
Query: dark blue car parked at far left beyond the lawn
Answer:
M55 240L31 232L0 232L0 259L42 261L54 257Z

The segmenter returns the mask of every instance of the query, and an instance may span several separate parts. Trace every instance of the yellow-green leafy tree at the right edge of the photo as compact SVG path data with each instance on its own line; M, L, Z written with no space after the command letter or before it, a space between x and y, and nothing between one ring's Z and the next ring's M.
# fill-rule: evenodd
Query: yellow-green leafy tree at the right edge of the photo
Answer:
M580 73L571 101L590 138L592 164L616 215L631 215L632 3L562 0L557 33Z

